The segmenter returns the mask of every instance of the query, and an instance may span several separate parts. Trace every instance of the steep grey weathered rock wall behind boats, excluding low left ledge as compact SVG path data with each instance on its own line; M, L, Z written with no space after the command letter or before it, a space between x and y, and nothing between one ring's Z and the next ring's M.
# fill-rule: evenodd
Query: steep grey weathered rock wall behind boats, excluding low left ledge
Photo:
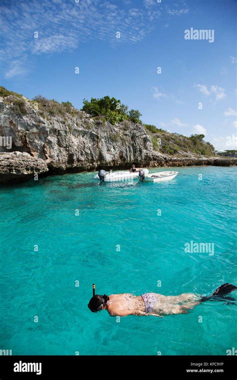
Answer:
M89 170L100 164L128 167L132 162L150 160L152 142L142 125L114 126L84 112L68 118L47 115L45 119L27 100L27 113L17 115L8 98L0 98L0 136L12 137L10 150L42 158L50 172ZM0 151L7 149L2 146Z

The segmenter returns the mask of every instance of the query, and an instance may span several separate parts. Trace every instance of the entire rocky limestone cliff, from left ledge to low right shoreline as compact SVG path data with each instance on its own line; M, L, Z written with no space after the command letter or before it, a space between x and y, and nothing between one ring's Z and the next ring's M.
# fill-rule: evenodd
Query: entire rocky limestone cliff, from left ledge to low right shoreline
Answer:
M232 165L237 161L234 158L218 158L214 156L214 151L212 157L181 149L176 155L166 155L154 150L154 137L141 124L125 120L112 125L103 118L91 117L78 110L73 116L67 113L53 116L39 110L35 101L23 96L20 101L23 102L23 111L19 109L16 96L0 97L0 136L11 138L10 148L1 140L0 152L28 153L39 166L43 160L50 174L93 170L99 165L105 169L128 168L133 162L154 167ZM203 141L203 144L207 143ZM17 160L15 162L17 171L19 165ZM42 166L42 172L45 172L44 169ZM3 178L3 166L1 170Z

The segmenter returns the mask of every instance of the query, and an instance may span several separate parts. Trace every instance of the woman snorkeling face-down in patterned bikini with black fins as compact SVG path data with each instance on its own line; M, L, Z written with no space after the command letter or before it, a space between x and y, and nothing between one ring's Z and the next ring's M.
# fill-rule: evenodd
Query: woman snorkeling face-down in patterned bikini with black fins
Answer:
M162 317L170 314L185 314L205 300L234 301L234 298L226 297L225 295L236 289L236 286L226 282L217 287L209 296L194 293L168 296L158 293L145 293L142 295L122 293L107 296L106 294L95 294L93 284L93 296L88 303L88 307L92 312L107 310L110 316L154 315Z

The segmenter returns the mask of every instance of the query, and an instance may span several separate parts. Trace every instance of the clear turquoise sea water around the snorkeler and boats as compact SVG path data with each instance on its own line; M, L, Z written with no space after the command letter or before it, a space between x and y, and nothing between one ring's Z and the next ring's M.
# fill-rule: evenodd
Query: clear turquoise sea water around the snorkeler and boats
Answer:
M87 308L93 282L100 294L137 295L236 285L236 167L178 171L156 184L99 184L94 173L79 173L1 188L0 348L199 355L236 347L234 304L208 301L189 314L120 322ZM185 253L191 240L214 243L214 254Z

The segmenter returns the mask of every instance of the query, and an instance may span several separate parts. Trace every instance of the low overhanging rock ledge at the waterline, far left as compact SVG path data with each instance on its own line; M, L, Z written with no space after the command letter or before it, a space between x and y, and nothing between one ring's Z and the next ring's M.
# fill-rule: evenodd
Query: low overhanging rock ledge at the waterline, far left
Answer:
M41 158L24 152L0 153L0 183L33 179L35 174L46 171L47 165Z

